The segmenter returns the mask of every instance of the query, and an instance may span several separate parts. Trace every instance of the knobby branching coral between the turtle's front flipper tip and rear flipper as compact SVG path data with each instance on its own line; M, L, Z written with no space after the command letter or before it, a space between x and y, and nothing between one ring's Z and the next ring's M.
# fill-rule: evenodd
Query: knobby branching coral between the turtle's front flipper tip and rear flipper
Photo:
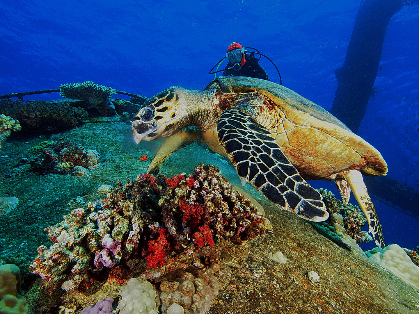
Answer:
M341 237L343 237L344 234L347 234L357 243L370 240L370 237L367 236L366 232L361 230L361 228L365 226L367 218L358 206L352 205L351 203L348 203L347 206L344 206L342 201L335 198L334 194L330 191L322 188L318 191L323 196L323 201L326 205L327 211L330 214L329 218L325 221L327 226L323 222L324 226L334 226L337 223L337 216L333 214L340 214L343 218L342 223L344 229L339 229L339 227L342 226L339 224L339 226L337 226L338 230L335 230L333 227L333 231L336 231ZM339 232L341 232L341 234L339 234Z

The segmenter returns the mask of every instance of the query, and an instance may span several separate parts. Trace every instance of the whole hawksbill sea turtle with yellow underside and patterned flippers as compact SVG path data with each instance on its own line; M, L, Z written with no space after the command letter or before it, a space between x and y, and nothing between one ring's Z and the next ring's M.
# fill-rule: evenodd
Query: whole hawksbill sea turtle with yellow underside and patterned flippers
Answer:
M304 179L333 180L344 203L352 190L375 244L384 247L362 178L385 175L383 157L328 111L282 85L218 77L202 91L173 86L143 104L132 133L137 143L168 137L149 173L156 175L173 152L200 141L231 160L243 185L251 183L275 205L310 221L329 214Z

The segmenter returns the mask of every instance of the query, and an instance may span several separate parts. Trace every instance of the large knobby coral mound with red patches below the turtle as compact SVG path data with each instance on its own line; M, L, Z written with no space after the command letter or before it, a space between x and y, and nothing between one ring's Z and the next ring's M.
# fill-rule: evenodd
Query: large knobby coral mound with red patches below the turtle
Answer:
M155 268L173 251L191 254L221 239L241 243L264 234L266 220L215 166L200 164L187 178L140 174L119 181L102 203L75 209L45 229L54 244L38 248L31 270L47 280L47 291L69 279L77 286L87 270L133 257Z

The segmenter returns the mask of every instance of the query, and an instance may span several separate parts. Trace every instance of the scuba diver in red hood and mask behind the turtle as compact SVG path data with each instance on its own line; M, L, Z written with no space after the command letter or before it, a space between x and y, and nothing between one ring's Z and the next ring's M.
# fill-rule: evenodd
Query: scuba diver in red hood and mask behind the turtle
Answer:
M253 49L257 52L248 51L245 49ZM259 59L256 59L254 54L259 54ZM214 65L214 67L212 67L212 69L209 71L209 74L215 74L216 76L217 72L223 71L223 76L248 76L270 81L265 69L261 67L261 65L259 64L259 60L262 56L266 57L264 54L261 54L260 51L255 48L243 48L241 44L233 41L230 45L228 45L225 57L223 57L219 62L217 62L217 64ZM270 62L272 62L271 59L269 59L268 57L266 58ZM223 70L218 70L218 67L220 67L221 62L224 59L228 59L228 64L225 66ZM272 62L272 64L274 64L274 62ZM215 72L211 72L216 66L217 70ZM280 84L282 85L281 74L279 73L277 66L275 64L274 66L278 71Z

